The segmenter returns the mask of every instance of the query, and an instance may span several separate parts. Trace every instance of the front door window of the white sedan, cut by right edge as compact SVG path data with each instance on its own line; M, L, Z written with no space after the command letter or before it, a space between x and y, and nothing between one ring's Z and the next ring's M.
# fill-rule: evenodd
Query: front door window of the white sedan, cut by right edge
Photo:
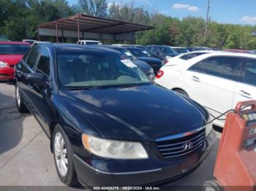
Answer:
M256 60L254 59L246 61L244 83L256 86Z

